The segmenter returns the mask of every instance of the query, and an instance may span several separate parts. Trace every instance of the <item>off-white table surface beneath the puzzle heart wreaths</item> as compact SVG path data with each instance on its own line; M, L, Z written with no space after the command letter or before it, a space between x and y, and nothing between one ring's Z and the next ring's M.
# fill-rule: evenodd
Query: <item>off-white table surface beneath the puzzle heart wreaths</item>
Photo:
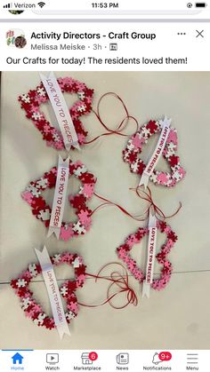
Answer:
M174 212L178 202L182 210L170 221L179 240L170 254L174 265L172 279L163 291L151 291L149 300L141 299L141 288L131 277L139 305L114 310L109 305L96 309L80 308L71 323L72 336L61 341L56 330L38 328L25 317L19 299L9 282L36 262L33 248L44 243L52 255L69 249L80 253L89 273L117 261L115 250L129 233L143 226L114 207L93 215L89 233L68 242L46 240L44 225L32 216L21 191L30 180L42 176L57 163L58 153L47 147L41 134L25 117L17 100L22 93L39 83L37 73L3 73L1 100L1 261L0 314L1 348L37 349L202 349L209 348L210 283L210 73L56 73L71 75L94 88L94 102L107 91L115 91L125 101L139 123L168 115L178 130L179 155L187 170L186 178L173 189L151 185L158 205L166 214ZM66 96L67 97L67 96ZM68 102L73 98L67 97ZM113 99L101 107L105 122L114 128L122 118L122 108ZM103 130L93 114L82 119L89 129L89 139ZM131 124L128 131L132 132ZM138 177L122 160L126 139L110 136L74 151L72 160L85 162L98 178L96 192L120 203L133 214L140 214L146 204L129 191ZM64 153L61 153L64 154ZM145 154L145 153L144 153ZM92 207L100 202L94 197ZM144 262L145 243L133 249L133 257ZM56 270L58 280L68 277L65 266ZM156 273L158 267L156 266ZM41 279L41 277L39 278ZM32 284L35 297L49 311L43 282ZM79 301L100 303L106 297L107 283L89 279L77 291ZM119 299L118 299L119 300Z

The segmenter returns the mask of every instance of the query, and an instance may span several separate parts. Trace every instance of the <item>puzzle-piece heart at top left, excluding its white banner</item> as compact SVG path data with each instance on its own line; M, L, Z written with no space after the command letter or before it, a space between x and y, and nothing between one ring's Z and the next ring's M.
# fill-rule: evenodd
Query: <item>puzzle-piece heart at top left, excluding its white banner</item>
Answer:
M77 132L78 143L79 145L84 145L88 132L85 131L84 125L79 120L79 117L91 112L93 90L87 88L85 83L78 82L72 77L60 77L57 81L63 93L77 93L79 100L69 109L69 113ZM26 111L26 116L28 119L32 120L37 130L42 133L47 146L62 150L65 149L65 146L61 131L54 128L52 124L46 120L44 113L40 110L41 104L44 104L48 100L49 97L44 89L43 83L40 83L35 90L28 91L27 94L22 94L19 97L21 108Z

